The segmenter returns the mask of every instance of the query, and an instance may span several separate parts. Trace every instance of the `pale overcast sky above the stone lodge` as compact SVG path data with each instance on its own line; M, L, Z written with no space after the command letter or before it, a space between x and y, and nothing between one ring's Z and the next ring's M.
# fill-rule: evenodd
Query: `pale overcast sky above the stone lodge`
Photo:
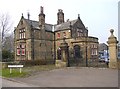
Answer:
M78 14L88 27L89 36L99 38L106 43L110 29L118 36L118 1L119 0L1 0L0 13L8 13L16 27L22 13L27 18L38 21L40 6L44 7L46 23L57 23L58 9L63 9L65 21L77 19Z

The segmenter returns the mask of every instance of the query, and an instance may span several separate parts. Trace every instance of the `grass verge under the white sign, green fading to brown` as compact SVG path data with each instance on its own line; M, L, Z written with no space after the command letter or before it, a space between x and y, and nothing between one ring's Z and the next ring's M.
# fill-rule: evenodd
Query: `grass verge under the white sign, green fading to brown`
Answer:
M32 76L40 71L48 71L56 69L54 65L39 65L39 66L30 66L30 67L23 67L22 73L20 73L19 68L13 68L12 73L10 74L9 68L3 68L0 70L0 76L12 78L12 77L27 77Z

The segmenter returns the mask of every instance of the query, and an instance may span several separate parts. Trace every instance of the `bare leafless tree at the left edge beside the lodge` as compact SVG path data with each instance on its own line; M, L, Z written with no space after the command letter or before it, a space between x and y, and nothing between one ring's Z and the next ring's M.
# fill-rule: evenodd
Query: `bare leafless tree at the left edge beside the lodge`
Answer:
M0 13L0 61L3 61L4 50L11 55L13 48L12 22L8 13ZM7 56L8 54L4 54Z

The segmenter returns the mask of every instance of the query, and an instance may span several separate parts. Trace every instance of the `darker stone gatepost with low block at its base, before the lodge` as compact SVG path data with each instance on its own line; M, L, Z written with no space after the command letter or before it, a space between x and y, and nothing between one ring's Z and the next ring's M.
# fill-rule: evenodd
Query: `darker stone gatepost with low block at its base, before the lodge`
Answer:
M69 67L69 46L66 43L65 38L63 38L63 42L60 44L61 49L61 60L56 60L57 67Z

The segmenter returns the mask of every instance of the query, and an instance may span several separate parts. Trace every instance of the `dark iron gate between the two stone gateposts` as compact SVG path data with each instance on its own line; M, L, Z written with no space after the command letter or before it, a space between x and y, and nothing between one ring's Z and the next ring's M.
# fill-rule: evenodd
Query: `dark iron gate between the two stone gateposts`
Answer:
M87 52L87 51L86 51ZM107 67L105 62L99 62L98 59L88 59L85 51L79 46L75 45L69 50L69 64L70 67Z

